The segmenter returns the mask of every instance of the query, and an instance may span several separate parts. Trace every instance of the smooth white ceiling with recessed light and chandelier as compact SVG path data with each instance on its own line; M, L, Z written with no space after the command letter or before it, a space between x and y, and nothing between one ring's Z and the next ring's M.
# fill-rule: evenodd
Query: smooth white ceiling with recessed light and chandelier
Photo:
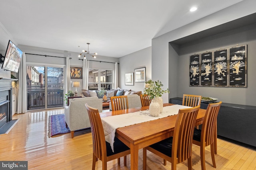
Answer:
M0 0L0 23L16 45L80 53L91 43L92 53L122 57L150 47L154 37L240 1ZM190 12L192 6L198 10Z

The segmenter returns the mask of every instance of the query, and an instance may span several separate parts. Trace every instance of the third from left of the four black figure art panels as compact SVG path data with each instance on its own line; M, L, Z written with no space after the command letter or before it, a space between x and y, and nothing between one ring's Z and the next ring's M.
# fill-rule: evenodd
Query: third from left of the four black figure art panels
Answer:
M213 76L213 86L228 87L228 49L214 51Z

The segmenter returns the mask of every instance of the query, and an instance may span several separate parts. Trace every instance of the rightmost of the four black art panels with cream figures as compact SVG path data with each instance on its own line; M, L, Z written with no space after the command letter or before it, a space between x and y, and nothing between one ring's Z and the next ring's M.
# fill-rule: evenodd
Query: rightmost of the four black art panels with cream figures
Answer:
M229 85L247 87L247 45L229 49Z

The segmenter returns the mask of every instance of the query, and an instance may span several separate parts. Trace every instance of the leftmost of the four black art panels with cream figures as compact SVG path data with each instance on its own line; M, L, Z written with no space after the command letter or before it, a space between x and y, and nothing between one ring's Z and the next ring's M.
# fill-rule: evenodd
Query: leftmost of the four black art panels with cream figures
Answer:
M190 56L189 64L189 86L200 85L200 69L199 69L200 55L194 54Z

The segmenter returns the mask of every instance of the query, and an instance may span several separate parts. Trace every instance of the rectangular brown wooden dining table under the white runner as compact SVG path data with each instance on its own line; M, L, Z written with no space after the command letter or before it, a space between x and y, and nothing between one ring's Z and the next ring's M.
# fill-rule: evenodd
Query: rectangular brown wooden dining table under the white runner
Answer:
M173 104L164 104L165 106L172 106ZM136 107L131 109L108 111L100 113L100 117L120 115L142 111L149 109L149 106ZM196 125L201 125L204 120L206 109L200 109L196 118ZM178 113L177 113L178 114ZM156 142L162 141L173 135L174 126L176 123L176 115L138 123L126 127L116 129L115 136L120 139L131 150L131 170L138 170L138 152L139 149L152 145Z

